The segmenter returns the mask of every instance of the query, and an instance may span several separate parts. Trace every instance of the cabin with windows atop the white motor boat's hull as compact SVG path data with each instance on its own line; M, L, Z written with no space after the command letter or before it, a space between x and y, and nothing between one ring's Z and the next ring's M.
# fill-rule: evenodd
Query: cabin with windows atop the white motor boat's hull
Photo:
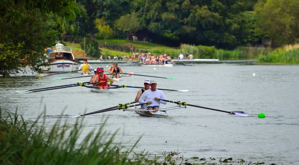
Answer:
M54 51L49 53L50 60L75 60L71 47L64 47L62 51L56 51L53 47L52 50Z

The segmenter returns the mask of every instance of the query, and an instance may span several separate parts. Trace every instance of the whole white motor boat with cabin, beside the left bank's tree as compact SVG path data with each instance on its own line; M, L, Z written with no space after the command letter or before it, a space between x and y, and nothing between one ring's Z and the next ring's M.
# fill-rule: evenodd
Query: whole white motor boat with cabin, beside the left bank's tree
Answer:
M56 47L53 47L53 50L48 56L50 62L49 73L77 70L78 63L75 61L71 47L64 47L62 51L55 51Z

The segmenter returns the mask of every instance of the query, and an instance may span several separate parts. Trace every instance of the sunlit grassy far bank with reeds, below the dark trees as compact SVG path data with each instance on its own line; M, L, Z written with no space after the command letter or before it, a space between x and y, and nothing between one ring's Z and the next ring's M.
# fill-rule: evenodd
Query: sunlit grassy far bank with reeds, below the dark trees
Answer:
M171 58L176 59L177 56L182 53L185 58L189 54L193 55L193 58L217 58L217 59L252 59L258 58L259 55L269 52L266 48L262 47L239 47L236 50L219 50L210 46L192 46L182 44L179 48L166 47L159 44L153 44L140 41L126 41L121 39L99 39L97 38L101 54L106 59L107 55L122 55L131 56L133 53L151 53L154 55L167 54ZM73 44L70 42L64 42L67 46L73 48L75 58L83 58L84 50L81 49L80 44ZM92 58L86 55L87 58Z

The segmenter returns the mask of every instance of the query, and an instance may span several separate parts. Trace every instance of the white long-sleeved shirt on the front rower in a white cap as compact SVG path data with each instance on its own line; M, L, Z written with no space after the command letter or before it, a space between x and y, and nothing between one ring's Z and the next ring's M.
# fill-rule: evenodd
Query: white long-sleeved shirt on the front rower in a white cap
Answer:
M167 102L165 101L161 101L161 100L154 100L153 98L159 98L159 99L163 99L165 100L166 97L164 96L163 92L160 90L155 90L154 92L149 90L146 90L141 97L139 98L139 104L143 104L143 103L147 103L148 101L151 101L151 104L149 104L148 106L159 106L160 107L160 103L162 104L166 104Z

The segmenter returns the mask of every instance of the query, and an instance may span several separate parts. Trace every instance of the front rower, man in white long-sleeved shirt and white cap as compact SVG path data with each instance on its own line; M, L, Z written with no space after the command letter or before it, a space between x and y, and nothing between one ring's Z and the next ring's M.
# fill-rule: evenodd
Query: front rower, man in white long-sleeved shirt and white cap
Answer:
M145 91L141 97L139 98L138 102L140 104L145 104L149 105L147 107L148 110L151 113L156 112L160 109L160 103L166 104L167 102L161 101L159 99L166 99L164 96L163 92L157 89L157 82L154 80L150 81L150 90Z

